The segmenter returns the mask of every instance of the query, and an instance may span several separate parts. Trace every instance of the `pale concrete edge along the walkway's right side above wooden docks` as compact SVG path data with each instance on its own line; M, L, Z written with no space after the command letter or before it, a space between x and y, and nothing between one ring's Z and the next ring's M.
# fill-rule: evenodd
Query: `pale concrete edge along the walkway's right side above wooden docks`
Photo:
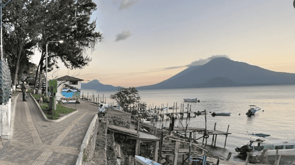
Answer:
M76 165L81 165L81 164L82 164L84 148L87 146L87 144L88 144L88 142L89 142L90 134L91 134L91 132L92 132L92 130L93 130L93 127L94 127L94 125L95 125L95 123L96 123L97 118L98 118L98 115L97 115L97 113L96 113L96 115L93 117L93 119L92 119L92 121L91 121L91 123L90 123L90 125L89 125L89 128L88 128L88 130L87 130L87 132L86 132L86 135L85 135L85 137L84 137L84 140L83 140L83 142L82 142L82 144L81 144L81 151L80 151L80 153L79 153L79 155L78 155L78 159L77 159L77 161L76 161Z

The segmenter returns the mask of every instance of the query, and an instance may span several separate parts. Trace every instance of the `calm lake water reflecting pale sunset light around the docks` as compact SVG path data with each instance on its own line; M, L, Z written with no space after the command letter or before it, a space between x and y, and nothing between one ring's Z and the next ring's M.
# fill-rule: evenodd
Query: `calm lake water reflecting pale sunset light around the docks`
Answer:
M96 92L95 90L82 90L84 94L89 95L94 92L101 97L104 94L106 102L112 102L109 99L113 92ZM215 149L216 153L227 156L228 152L232 152L232 160L237 160L234 156L236 147L241 147L249 142L247 131L249 133L265 133L271 136L268 139L285 139L295 138L294 125L294 107L295 107L295 85L279 85L279 86L243 86L243 87L214 87L214 88L190 88L190 89L155 89L155 90L139 90L142 102L146 102L148 106L173 106L177 102L178 107L184 103L183 98L198 98L199 103L189 103L192 111L207 112L231 112L231 116L215 116L207 115L207 129L214 129L214 123L217 122L216 129L226 132L229 127L230 134L227 137L226 146L224 148L224 135L217 135L216 146L221 149ZM261 110L258 115L247 117L245 113L249 109L249 105L256 105ZM185 108L186 110L186 108ZM169 111L168 111L169 112ZM172 112L172 110L171 110ZM210 114L210 113L209 113ZM240 115L239 115L240 114ZM194 115L192 115L194 116ZM169 120L156 121L155 126L160 128L162 123L169 126ZM175 125L181 126L180 121L185 126L189 124L191 127L205 128L205 116L200 115L186 119L175 120ZM151 123L153 124L153 123ZM199 140L201 142L201 140ZM212 136L207 139L207 144L211 144Z

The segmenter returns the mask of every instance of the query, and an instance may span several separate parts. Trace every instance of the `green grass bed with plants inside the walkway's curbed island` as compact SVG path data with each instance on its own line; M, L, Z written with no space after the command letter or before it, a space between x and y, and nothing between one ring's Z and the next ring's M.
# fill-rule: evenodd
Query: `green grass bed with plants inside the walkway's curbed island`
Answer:
M38 94L32 94L32 96L36 100L40 97L40 95L38 95ZM50 120L57 120L60 117L65 116L68 113L76 111L75 109L65 107L65 106L63 106L63 104L58 103L56 105L56 110L53 112L53 119L52 119L52 112L51 112L51 110L49 110L49 103L45 103L43 100L43 104L39 104L39 105L40 105L41 109L43 110L44 114L46 115L47 119L50 119Z

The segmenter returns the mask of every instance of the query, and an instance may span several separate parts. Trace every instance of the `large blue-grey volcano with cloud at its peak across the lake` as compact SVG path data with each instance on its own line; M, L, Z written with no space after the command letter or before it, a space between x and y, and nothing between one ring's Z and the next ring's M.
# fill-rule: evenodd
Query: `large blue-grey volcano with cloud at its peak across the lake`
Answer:
M158 84L136 89L194 88L216 86L253 86L295 84L294 73L275 72L228 58L214 58L208 63L189 67Z

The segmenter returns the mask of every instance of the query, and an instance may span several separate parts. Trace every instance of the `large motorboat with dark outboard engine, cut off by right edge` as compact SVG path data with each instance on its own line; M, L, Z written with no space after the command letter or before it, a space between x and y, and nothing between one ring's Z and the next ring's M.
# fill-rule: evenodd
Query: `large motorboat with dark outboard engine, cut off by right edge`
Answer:
M240 155L246 155L247 152L262 152L262 150L268 150L268 155L275 155L276 150L284 150L288 152L288 149L295 147L295 139L281 139L281 140L267 140L263 137L248 134L250 142L240 148L235 148L235 151ZM294 153L293 150L289 150L290 153Z

